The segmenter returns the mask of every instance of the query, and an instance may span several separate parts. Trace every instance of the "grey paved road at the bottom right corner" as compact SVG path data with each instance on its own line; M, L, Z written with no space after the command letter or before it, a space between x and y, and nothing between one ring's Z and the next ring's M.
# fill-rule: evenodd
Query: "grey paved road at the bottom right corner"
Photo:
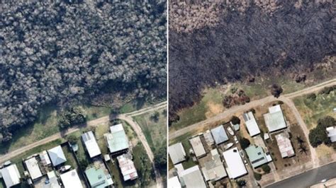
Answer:
M331 179L336 177L336 162L330 163L320 168L315 168L300 175L296 175L287 180L276 182L267 186L268 188L301 188L310 187L313 184L319 183L323 179Z

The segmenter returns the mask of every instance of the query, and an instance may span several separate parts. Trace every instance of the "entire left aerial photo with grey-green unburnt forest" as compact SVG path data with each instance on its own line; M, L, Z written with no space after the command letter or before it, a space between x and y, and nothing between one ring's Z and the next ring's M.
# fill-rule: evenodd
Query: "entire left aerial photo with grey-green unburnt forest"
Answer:
M0 1L0 188L167 184L167 1Z

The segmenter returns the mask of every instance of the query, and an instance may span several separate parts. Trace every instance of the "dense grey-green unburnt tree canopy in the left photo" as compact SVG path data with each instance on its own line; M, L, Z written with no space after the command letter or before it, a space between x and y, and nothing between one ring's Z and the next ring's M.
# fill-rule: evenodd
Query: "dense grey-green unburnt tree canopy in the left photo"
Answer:
M106 83L139 98L165 96L165 1L22 1L0 8L3 141L42 105L95 95Z

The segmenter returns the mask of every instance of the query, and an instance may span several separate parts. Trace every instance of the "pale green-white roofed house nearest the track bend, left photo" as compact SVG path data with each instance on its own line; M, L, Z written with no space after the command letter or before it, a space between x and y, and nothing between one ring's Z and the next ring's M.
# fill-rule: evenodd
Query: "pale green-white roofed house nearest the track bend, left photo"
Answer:
M123 129L123 124L116 124L110 127L111 134L106 134L108 149L110 153L125 152L128 150L128 138Z

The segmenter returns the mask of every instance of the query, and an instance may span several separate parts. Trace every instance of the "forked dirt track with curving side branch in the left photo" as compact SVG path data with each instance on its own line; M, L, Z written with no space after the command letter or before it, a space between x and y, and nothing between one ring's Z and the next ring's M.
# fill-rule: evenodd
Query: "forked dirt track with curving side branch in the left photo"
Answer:
M135 133L138 135L138 139L140 139L142 145L144 146L146 153L148 154L148 158L150 158L150 162L153 164L153 167L155 169L155 179L157 182L157 187L162 187L162 178L159 175L158 170L155 168L154 165L154 154L152 153L152 149L150 148L149 144L147 143L147 140L145 138L145 135L142 132L141 127L139 126L138 123L134 122L132 117L139 115L139 114L144 114L146 112L151 112L155 110L159 110L163 107L167 107L167 102L161 102L159 104L153 105L152 107L146 107L141 110L137 110L134 112L128 112L125 114L117 114L113 115L112 117L115 119L122 119L125 122L128 122L130 126L134 129ZM37 141L35 143L29 144L27 146L23 146L22 148L19 148L15 151L11 151L10 153L7 153L6 155L0 155L0 163L4 163L6 160L10 160L11 158L15 157L16 155L20 155L21 153L24 153L26 151L29 151L31 148L35 148L37 146L41 146L45 143L48 143L50 141L55 141L57 139L65 138L67 134L71 134L75 131L79 131L79 127L97 127L100 124L105 124L110 122L111 117L110 116L105 116L101 117L99 119L94 119L89 122L86 122L84 125L79 125L77 127L72 127L71 129L67 129L67 131L63 133L57 133L53 134L52 136L49 136L45 139L42 139L40 141Z

